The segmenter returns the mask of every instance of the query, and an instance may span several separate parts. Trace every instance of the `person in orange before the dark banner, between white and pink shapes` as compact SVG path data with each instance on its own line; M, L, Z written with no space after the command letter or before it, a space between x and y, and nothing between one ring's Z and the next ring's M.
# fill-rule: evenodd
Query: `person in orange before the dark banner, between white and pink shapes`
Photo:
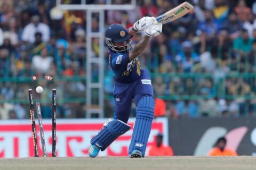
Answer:
M215 147L210 150L208 156L237 156L235 150L226 148L227 139L221 137L215 143Z

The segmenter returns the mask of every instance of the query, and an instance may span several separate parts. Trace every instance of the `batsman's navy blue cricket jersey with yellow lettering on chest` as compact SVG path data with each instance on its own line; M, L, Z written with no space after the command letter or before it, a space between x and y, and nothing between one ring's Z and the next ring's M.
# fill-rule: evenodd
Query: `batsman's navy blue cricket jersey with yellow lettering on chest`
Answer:
M117 53L109 49L109 64L114 72L114 79L121 83L131 83L140 78L141 65L139 58L129 60L129 52Z

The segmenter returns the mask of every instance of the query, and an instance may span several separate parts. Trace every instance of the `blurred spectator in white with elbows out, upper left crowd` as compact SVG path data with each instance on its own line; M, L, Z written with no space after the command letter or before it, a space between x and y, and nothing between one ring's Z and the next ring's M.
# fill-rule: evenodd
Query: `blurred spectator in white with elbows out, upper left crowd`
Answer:
M45 23L39 21L38 15L34 15L31 18L31 22L27 24L26 27L24 28L21 38L23 41L26 41L28 43L35 43L35 36L31 35L35 35L36 32L41 32L43 41L49 42L50 28Z

